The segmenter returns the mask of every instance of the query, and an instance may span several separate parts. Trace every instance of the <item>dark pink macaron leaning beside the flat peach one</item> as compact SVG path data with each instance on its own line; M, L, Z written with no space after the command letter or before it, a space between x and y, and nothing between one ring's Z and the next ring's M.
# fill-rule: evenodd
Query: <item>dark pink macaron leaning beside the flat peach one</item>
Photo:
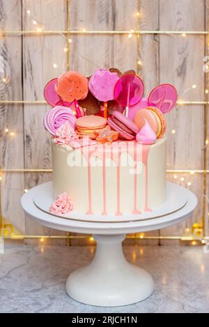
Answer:
M126 140L134 140L139 131L139 127L119 111L114 111L111 118L108 118L107 123L114 131L118 131L121 138Z

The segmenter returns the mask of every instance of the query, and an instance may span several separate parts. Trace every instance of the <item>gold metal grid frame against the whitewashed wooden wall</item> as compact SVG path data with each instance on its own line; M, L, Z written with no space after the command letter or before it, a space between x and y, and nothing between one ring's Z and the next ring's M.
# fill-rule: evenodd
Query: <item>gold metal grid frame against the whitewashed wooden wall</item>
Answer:
M139 54L139 40L140 40L140 35L147 35L147 34L159 34L159 35L203 35L205 38L205 45L206 45L206 38L208 38L209 31L141 31L140 30L140 15L138 15L139 19L137 22L137 31L130 30L130 31L70 31L70 15L69 15L69 8L70 8L70 0L67 0L67 30L64 31L1 31L0 33L0 38L3 38L4 36L9 36L9 35L54 35L54 34L63 34L67 35L67 38L70 38L70 35L123 35L123 34L132 34L137 36L137 62L140 59L140 54ZM140 13L141 9L141 1L138 0L138 12ZM70 45L69 42L66 44L66 54L67 54L67 59L66 59L66 66L67 70L70 69ZM206 54L206 47L205 47L205 54ZM137 65L137 72L139 73L139 65ZM206 78L205 78L205 83L204 86L206 88ZM178 105L195 105L195 104L202 104L204 105L204 115L205 115L205 124L204 124L204 136L205 140L207 138L207 131L208 131L208 110L207 110L207 105L209 104L208 101L208 96L205 95L205 100L204 101L178 101ZM1 100L0 104L46 104L44 100ZM206 147L204 147L204 157L203 157L203 169L199 170L167 170L167 173L199 173L203 174L203 193L206 193L206 188L207 188L207 174L209 173L209 170L207 170L206 167ZM52 173L52 169L37 169L37 168L32 168L32 169L22 169L22 168L13 168L13 169L1 169L0 168L0 177L3 175L3 173ZM202 217L202 225L199 226L199 230L203 231L203 237L205 235L205 229L204 229L204 220L206 218L206 198L203 197L203 217ZM197 225L197 224L194 224ZM8 224L6 225L8 227ZM1 214L1 190L0 190L0 232L3 231L3 216ZM13 226L10 225L10 230L13 231ZM69 232L66 234L66 236L41 236L41 235L21 235L21 234L14 234L13 232L11 233L10 239L66 239L67 244L70 245L70 240L71 239L89 239L88 236L83 236L83 235L71 235ZM167 240L181 240L181 241L192 241L193 243L196 243L197 241L201 241L201 239L195 239L194 237L180 237L180 236L145 236L139 233L134 234L134 235L128 235L127 239L167 239ZM202 241L204 244L204 241Z

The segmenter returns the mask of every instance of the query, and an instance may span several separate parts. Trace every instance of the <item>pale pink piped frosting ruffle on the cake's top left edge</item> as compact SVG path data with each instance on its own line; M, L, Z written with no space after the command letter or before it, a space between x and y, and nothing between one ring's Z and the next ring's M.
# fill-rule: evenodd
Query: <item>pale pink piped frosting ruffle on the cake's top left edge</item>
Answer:
M57 129L54 142L61 145L70 145L72 140L77 140L78 138L79 136L70 125L70 122L67 121Z

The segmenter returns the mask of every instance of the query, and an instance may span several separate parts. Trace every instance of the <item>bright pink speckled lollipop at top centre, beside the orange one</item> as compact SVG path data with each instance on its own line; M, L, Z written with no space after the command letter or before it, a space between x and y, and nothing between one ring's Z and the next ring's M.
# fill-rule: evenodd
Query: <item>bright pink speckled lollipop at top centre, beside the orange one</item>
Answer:
M109 70L96 70L89 79L89 90L94 97L104 102L104 118L107 118L107 101L114 99L114 86L117 81L118 74Z

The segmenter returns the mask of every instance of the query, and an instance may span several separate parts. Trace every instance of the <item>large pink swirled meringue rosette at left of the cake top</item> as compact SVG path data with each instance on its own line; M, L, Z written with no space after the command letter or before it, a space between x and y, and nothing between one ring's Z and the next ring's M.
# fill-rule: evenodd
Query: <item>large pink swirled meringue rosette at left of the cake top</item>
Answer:
M45 129L53 136L56 135L57 129L65 122L70 122L71 127L75 129L75 115L73 115L72 109L66 106L54 106L45 114Z

